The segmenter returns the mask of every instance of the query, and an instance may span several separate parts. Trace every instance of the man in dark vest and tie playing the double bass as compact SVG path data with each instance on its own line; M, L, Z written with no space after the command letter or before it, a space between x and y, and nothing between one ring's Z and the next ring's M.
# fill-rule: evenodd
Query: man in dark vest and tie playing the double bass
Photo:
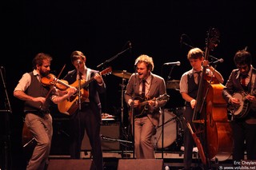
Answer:
M187 59L190 61L190 65L192 69L182 74L182 78L180 81L180 93L182 94L182 98L186 101L186 109L184 111L184 117L186 121L188 121L192 125L192 118L194 113L194 107L197 104L196 98L198 94L198 85L199 85L199 77L204 77L202 75L202 66L206 66L209 64L209 61L204 60L202 49L193 48L187 53ZM209 66L206 69L206 75L214 76L220 83L224 82L224 79L221 73L218 73L216 69L212 66ZM186 122L184 123L184 168L190 169L192 164L192 153L194 147L194 139L192 134L190 133L190 129L186 126Z

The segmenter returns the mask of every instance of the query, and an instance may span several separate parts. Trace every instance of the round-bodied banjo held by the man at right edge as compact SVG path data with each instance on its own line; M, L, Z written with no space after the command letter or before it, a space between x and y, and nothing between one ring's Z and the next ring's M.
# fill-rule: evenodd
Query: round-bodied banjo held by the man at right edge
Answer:
M256 89L250 93L250 95L255 95ZM237 98L239 101L241 101L240 105L230 105L230 112L233 114L235 118L243 118L246 117L250 110L250 101L246 99L246 92L238 92L234 93L232 97Z

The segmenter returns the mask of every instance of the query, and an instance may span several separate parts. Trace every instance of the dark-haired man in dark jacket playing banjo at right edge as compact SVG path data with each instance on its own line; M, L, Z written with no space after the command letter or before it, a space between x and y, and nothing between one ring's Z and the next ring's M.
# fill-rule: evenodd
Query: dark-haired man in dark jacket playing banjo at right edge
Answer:
M222 96L231 106L231 127L234 136L233 160L256 160L256 69L251 65L251 54L246 49L234 55L238 69L230 73Z

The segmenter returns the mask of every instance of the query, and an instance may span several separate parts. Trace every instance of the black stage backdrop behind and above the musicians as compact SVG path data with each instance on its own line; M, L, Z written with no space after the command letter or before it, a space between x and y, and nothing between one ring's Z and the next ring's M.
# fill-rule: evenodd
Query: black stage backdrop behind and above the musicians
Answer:
M182 73L191 68L186 59L190 49L188 45L205 49L207 31L214 27L220 31L221 37L218 47L210 54L224 59L217 69L225 80L235 68L233 57L238 49L247 46L256 65L256 8L253 0L28 0L4 1L1 6L0 66L4 70L12 109L8 115L10 143L7 142L7 152L10 151L10 157L7 160L14 169L20 169L25 163L21 145L22 102L13 97L13 90L22 73L32 70L31 61L36 53L50 53L54 57L51 69L55 75L66 65L61 78L73 69L70 53L74 50L86 54L86 65L91 69L102 69L97 65L114 57L105 66L129 73L134 72L135 58L145 53L154 58L154 73L166 80L168 75L170 80L179 80ZM188 45L180 43L181 37ZM132 49L121 53L128 48L129 41ZM173 61L180 61L181 65L175 66L170 73L171 66L163 64ZM107 91L101 96L103 112L120 117L122 78L107 75L104 80ZM127 80L124 81L126 83ZM0 86L0 109L4 110L6 93L2 81ZM167 89L167 93L170 101L166 108L175 109L183 105L178 90ZM56 110L53 117L62 115ZM1 144L6 145L5 142ZM6 152L2 150L1 158ZM3 160L2 164L5 163Z

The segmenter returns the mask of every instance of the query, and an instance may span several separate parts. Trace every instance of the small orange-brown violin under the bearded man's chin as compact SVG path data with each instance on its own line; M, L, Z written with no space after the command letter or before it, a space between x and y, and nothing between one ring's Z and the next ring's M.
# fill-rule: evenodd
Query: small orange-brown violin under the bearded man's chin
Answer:
M68 82L65 80L58 80L58 78L56 78L54 76L54 74L49 73L46 77L42 77L41 78L41 83L42 85L49 85L49 86L53 86L55 85L58 89L60 90L66 90L67 88L69 88L70 85L68 85Z

